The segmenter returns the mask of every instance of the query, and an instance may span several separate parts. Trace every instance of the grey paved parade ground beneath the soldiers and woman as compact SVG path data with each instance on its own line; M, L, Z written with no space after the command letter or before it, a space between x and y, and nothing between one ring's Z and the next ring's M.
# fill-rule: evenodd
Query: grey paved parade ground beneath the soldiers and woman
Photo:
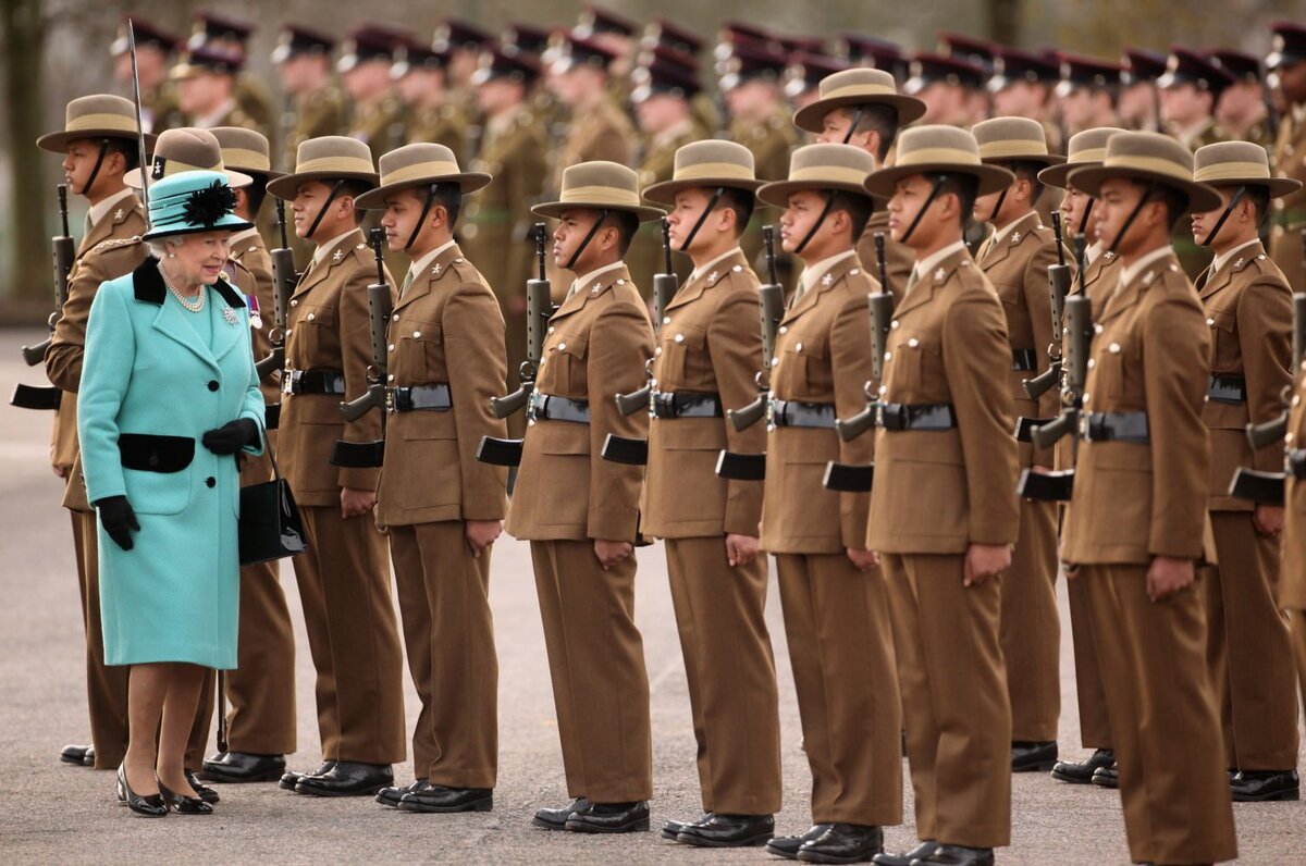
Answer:
M14 381L43 383L21 366L18 346L37 332L0 332L0 392ZM371 801L304 799L274 785L226 786L212 818L146 820L114 805L112 776L61 765L67 742L86 738L82 630L69 524L60 485L47 466L48 417L0 408L0 852L7 862L461 861L461 862L763 862L757 850L691 850L644 833L577 837L529 826L542 805L565 801L543 633L525 545L495 547L492 602L500 666L500 776L495 811L478 815L400 814ZM637 619L653 683L654 822L699 814L684 671L660 549L640 556ZM299 637L299 754L316 765L312 666L295 583L283 568ZM1064 607L1063 607L1064 610ZM768 615L780 670L784 722L782 832L808 826L810 778L799 750L798 711L778 600ZM1070 633L1063 635L1062 748L1077 748ZM409 717L415 717L409 690ZM406 781L409 767L398 768ZM904 765L905 776L905 765ZM1128 856L1115 793L1075 788L1038 775L1015 777L1012 845L1007 863L1119 863ZM1306 862L1306 806L1238 805L1239 846L1249 863ZM910 786L905 823L887 832L891 848L910 846Z

